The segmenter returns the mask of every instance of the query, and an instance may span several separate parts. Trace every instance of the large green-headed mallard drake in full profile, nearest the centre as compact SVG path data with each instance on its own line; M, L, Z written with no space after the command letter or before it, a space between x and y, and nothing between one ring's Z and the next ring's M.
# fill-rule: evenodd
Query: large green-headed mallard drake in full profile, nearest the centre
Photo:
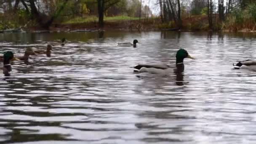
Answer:
M134 72L149 72L152 74L169 74L173 72L183 72L184 64L183 60L185 58L195 59L189 55L189 53L184 49L179 49L176 53L176 69L171 68L168 64L139 64L135 66Z

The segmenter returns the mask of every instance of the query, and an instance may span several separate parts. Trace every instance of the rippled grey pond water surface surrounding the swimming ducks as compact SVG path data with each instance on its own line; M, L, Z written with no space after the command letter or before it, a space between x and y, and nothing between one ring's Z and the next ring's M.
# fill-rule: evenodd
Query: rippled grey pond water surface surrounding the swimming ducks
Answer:
M0 143L255 144L255 35L176 32L0 34L1 50L66 37L52 57L32 56L0 75ZM137 48L118 47L139 40ZM183 75L134 74L138 63L175 63ZM0 63L2 64L2 63Z

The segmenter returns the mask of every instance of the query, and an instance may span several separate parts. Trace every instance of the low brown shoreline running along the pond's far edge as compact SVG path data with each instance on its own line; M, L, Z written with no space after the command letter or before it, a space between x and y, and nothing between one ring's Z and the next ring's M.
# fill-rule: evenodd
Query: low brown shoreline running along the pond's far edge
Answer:
M109 23L106 24L104 28L98 27L87 27L88 24L53 24L53 27L49 29L41 29L39 27L28 27L25 29L5 29L0 31L0 33L51 33L51 32L102 32L102 31L130 31L130 32L152 32L152 31L173 31L173 32L225 32L225 33L256 33L256 30L248 30L248 29L241 29L237 31L232 31L229 29L224 30L210 30L210 29L201 29L201 30L191 30L191 29L179 29L179 28L158 28L156 25L147 24L141 26L142 28L131 28L131 27L120 27L120 25L116 25L115 27L111 27Z

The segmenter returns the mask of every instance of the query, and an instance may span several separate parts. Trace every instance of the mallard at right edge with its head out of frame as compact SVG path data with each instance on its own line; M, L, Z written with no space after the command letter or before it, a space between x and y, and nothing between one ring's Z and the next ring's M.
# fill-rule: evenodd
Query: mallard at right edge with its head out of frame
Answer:
M256 60L245 60L245 61L238 61L237 64L233 64L235 69L250 69L256 71Z

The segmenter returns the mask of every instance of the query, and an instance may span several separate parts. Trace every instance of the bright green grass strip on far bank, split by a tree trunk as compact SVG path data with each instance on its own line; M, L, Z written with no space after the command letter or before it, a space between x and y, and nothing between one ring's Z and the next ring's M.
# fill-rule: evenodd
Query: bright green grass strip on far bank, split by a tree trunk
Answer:
M104 17L104 21L127 21L127 20L139 20L139 18L129 17L129 16L113 16L113 17ZM86 18L77 17L74 19L70 19L68 21L64 21L62 24L81 24L88 22L98 22L98 17L90 16Z

